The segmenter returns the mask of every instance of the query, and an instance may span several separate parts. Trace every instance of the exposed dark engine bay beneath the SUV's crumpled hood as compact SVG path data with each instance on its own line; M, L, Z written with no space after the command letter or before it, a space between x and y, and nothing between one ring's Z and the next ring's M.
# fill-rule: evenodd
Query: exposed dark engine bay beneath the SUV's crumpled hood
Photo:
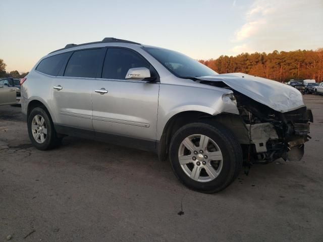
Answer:
M222 81L197 82L233 91L240 117L220 117L220 122L234 131L247 163L268 163L278 158L300 160L303 157L304 143L310 138L309 122L313 122L312 112L306 106L279 112Z

